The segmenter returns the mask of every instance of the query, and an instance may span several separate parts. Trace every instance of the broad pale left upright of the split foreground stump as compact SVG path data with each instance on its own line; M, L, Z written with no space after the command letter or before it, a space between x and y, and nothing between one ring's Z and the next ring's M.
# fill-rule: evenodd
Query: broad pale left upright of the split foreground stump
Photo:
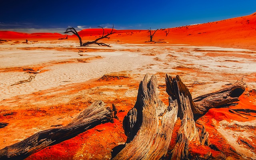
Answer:
M123 120L127 144L114 160L157 160L168 150L178 104L170 98L170 105L166 108L158 99L156 76L153 75L149 81L147 79L148 74L140 82L134 108Z

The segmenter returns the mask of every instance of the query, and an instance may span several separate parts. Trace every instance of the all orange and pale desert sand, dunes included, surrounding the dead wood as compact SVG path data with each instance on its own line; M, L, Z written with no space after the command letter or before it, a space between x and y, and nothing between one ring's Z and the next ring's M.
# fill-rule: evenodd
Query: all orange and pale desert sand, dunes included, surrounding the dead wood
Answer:
M0 128L0 149L56 128L52 125L65 126L92 102L102 100L116 106L119 120L100 124L26 159L110 159L112 149L126 141L122 120L136 102L139 82L146 73L155 74L160 99L168 105L164 79L168 73L179 75L193 98L243 79L247 87L238 105L212 108L196 125L206 127L210 142L227 159L256 159L255 150L240 142L246 140L256 147L255 114L243 117L228 111L256 109L255 26L256 14L252 14L170 28L167 36L168 28L161 29L154 36L157 43L146 42L147 30L114 30L110 40L102 40L111 47L79 47L76 36L57 40L65 36L17 36L0 31L0 38L7 40L0 44L0 122L8 123ZM101 32L81 31L80 36L86 42ZM30 82L12 85L29 76L34 76ZM193 156L220 153L208 146L192 145L189 150Z

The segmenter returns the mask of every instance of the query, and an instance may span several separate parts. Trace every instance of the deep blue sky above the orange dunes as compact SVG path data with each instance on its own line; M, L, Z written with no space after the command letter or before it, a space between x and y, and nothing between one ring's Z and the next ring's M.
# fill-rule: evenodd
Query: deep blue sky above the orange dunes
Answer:
M256 0L0 0L0 11L0 30L156 29L246 16Z

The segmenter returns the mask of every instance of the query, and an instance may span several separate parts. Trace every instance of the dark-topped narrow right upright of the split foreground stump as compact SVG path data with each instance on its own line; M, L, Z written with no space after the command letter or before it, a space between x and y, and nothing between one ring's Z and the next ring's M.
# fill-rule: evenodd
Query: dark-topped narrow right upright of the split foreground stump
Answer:
M192 102L190 101L192 101L192 97L179 76L172 78L166 74L166 91L173 100L178 100L178 108L180 109L178 116L181 119L177 143L172 150L171 159L188 159L189 142L199 142L199 130L196 128L193 112L191 110Z

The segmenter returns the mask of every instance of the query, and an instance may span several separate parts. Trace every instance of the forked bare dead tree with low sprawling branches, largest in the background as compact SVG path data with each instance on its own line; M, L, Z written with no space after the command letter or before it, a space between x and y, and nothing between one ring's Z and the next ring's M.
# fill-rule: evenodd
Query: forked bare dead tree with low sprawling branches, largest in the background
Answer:
M105 36L104 36L104 33L105 33L104 28L101 27L101 26L98 26L98 27L102 28L102 30L103 30L102 36L101 36L100 38L97 38L97 39L94 40L94 41L88 41L88 42L85 42L85 43L82 43L81 37L79 36L78 32L76 32L76 30L75 30L74 28L68 28L68 29L66 30L66 32L64 32L64 33L72 32L73 34L75 34L76 36L78 36L79 42L80 42L80 46L88 46L88 45L90 45L90 44L98 44L99 46L108 46L108 47L110 47L110 44L108 45L108 44L105 44L105 43L102 43L102 42L98 42L98 40L101 40L101 39L104 39L104 38L108 38L108 39L109 39L110 37L108 37L108 36L111 35L111 34L113 34L113 33L115 33L115 32L113 32L113 30L114 30L114 25L113 25L113 27L112 27L111 32L108 33L108 34L106 34Z

